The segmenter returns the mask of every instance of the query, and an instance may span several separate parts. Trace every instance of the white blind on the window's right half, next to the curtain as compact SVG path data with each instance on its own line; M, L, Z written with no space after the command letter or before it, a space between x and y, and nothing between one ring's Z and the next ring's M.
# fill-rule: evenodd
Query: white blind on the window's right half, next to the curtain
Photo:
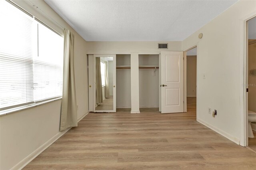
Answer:
M62 96L63 38L38 23L38 55L34 56L34 101Z

